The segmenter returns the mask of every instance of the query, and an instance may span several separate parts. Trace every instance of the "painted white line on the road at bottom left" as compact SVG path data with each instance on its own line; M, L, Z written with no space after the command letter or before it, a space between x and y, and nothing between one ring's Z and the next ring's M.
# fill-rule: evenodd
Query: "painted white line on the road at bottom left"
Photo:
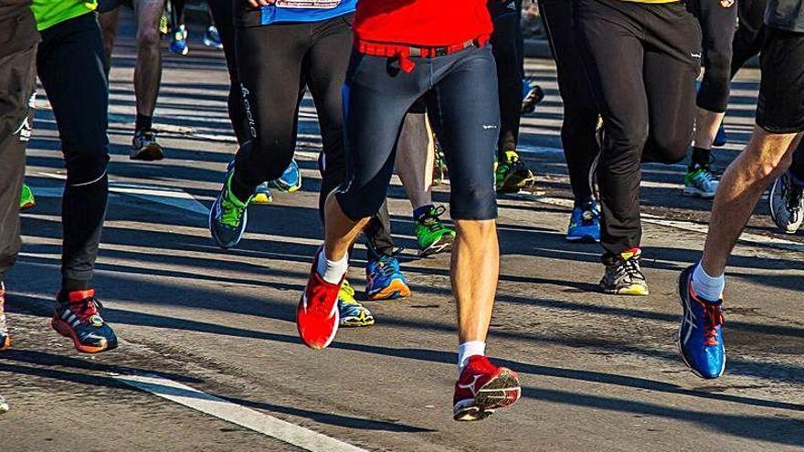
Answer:
M251 408L227 402L215 395L206 394L158 375L112 374L111 378L176 404L185 405L201 413L213 415L218 419L311 452L366 452L360 447L354 447L338 439L313 432L302 426L296 426Z

